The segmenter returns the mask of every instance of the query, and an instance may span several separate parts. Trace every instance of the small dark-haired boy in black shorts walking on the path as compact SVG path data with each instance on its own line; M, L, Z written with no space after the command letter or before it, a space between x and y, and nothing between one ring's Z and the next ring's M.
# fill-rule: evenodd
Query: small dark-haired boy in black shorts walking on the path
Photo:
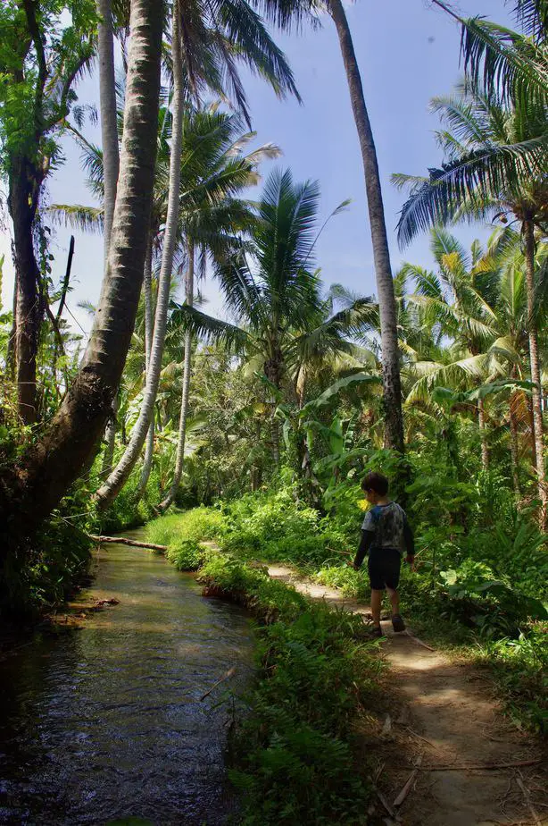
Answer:
M366 513L361 526L361 543L353 562L353 569L360 568L361 562L369 552L373 633L375 636L383 636L380 628L380 607L385 588L392 603L394 631L405 630L405 623L399 612L400 596L397 588L403 552L407 553L405 561L409 562L412 570L415 545L405 511L386 496L388 493L386 476L381 473L368 473L361 487L372 508Z

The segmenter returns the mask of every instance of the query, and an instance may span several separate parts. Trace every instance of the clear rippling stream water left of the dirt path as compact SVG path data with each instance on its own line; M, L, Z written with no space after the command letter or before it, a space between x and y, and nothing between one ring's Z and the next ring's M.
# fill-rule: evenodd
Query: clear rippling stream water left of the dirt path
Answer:
M0 823L226 822L228 687L241 694L250 678L249 620L123 545L98 552L80 598L110 597L120 604L84 628L38 635L0 662Z

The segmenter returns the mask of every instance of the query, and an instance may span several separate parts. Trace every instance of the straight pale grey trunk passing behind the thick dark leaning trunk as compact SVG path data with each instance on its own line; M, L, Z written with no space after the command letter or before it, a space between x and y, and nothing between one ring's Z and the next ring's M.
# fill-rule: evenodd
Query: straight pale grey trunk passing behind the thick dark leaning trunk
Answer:
M99 58L99 105L101 109L101 139L104 176L104 267L106 269L112 234L112 218L120 173L118 125L116 122L116 79L114 74L114 37L112 34L112 0L97 0L97 56ZM112 471L118 394L112 399L111 416L104 432L102 477Z

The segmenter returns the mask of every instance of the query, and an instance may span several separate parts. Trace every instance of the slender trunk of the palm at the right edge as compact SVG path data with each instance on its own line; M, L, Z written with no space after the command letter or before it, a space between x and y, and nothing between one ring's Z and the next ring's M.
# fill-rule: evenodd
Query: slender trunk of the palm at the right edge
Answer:
M538 484L538 498L541 503L539 511L539 522L541 529L546 527L548 511L548 488L546 487L546 475L544 471L544 427L543 409L541 403L541 373L538 358L538 339L536 334L535 321L535 226L533 221L527 219L523 222L523 233L525 236L525 262L526 262L526 283L527 283L527 316L528 316L528 337L529 337L529 361L531 366L531 400L533 404L533 426L536 452L536 478Z

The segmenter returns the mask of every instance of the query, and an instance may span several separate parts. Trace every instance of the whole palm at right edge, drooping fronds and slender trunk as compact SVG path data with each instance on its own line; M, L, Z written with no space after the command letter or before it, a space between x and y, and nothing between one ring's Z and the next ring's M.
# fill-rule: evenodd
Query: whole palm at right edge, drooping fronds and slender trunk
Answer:
M536 232L545 234L548 223L548 131L544 105L536 97L521 97L507 107L493 97L461 89L458 97L436 98L433 108L449 125L438 133L447 162L431 169L428 178L395 175L399 185L411 185L398 224L401 243L436 223L471 215L501 217L510 213L521 225L524 242L528 343L533 413L535 420L536 475L541 520L548 504L545 484L541 374L535 321Z

